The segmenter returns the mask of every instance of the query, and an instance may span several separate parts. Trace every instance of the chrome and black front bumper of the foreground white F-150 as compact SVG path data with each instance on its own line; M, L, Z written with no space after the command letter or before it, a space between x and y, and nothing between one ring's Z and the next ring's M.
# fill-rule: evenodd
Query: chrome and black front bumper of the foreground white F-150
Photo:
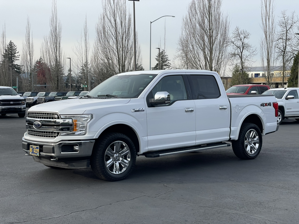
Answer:
M23 137L22 148L29 155L30 145L39 146L39 156L33 156L35 161L48 166L64 168L89 167L90 156L93 151L94 139L66 140L60 142L29 141ZM74 149L74 147L76 149Z

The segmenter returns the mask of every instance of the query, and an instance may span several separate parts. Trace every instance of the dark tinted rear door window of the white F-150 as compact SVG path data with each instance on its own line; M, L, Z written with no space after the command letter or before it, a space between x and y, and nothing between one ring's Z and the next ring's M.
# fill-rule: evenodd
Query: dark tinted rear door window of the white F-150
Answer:
M214 76L191 75L193 99L214 99L220 96L220 91Z

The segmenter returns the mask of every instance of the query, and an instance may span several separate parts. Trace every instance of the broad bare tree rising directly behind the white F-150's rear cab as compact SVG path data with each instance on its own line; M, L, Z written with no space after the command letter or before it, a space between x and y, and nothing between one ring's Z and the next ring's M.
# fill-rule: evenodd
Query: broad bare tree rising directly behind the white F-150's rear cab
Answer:
M221 0L192 0L182 21L177 59L191 69L223 72L227 60L230 22Z

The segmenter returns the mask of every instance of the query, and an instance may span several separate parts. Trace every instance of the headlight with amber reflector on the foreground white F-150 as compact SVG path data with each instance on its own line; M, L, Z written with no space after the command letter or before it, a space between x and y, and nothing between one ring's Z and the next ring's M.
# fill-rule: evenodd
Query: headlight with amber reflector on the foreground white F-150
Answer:
M87 123L93 119L92 114L82 114L82 115L61 115L61 118L72 118L73 119L73 131L72 132L62 132L60 135L85 135Z

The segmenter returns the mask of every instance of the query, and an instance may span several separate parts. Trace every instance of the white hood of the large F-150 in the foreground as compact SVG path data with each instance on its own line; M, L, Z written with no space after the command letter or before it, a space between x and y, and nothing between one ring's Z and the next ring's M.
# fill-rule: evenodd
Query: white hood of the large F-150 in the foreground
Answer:
M127 104L130 100L131 99L118 99L118 98L109 98L109 99L83 98L83 99L59 100L59 101L53 101L53 102L32 106L28 110L28 112L36 111L36 112L56 112L58 114L84 114L84 112L89 109Z

